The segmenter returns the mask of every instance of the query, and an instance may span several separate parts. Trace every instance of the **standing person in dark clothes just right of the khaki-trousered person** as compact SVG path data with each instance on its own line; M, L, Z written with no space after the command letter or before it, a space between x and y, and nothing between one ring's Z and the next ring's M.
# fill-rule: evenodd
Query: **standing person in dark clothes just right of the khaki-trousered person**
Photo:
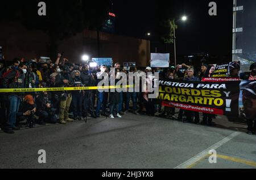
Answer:
M71 73L73 78L74 87L82 87L81 73L79 70L74 70ZM82 120L82 97L84 96L83 90L72 91L73 115L74 120Z

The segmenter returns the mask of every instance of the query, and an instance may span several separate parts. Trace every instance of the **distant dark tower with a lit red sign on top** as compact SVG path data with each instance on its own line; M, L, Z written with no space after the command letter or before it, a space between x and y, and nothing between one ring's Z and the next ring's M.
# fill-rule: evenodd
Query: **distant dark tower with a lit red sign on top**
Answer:
M103 31L114 33L115 32L115 16L113 0L110 1L110 9L108 11L108 18L105 20Z

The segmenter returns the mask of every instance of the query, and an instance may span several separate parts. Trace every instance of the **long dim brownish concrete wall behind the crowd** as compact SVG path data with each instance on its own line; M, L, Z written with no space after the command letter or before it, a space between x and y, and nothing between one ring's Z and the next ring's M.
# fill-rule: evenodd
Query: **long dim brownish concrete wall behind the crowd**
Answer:
M24 57L48 56L49 38L42 31L28 31L18 22L0 23L0 46L7 60ZM84 32L59 42L59 52L71 62L80 63L81 56L88 54L98 57L97 32ZM147 66L150 60L150 41L100 32L100 57L112 57L114 62L137 62L137 66ZM55 57L52 57L54 60Z

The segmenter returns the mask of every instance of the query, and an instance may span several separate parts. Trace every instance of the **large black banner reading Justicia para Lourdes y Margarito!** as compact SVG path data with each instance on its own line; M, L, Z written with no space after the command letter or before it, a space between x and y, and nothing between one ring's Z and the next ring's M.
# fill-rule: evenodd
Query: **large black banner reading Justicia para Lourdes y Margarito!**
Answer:
M208 114L238 116L240 81L179 82L159 81L163 106Z

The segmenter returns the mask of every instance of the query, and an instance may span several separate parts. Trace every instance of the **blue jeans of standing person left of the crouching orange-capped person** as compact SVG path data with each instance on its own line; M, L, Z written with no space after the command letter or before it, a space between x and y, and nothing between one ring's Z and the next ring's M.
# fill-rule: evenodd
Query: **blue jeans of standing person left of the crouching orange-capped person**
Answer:
M7 128L14 128L16 124L16 114L19 112L20 97L9 95L9 115L7 121Z

